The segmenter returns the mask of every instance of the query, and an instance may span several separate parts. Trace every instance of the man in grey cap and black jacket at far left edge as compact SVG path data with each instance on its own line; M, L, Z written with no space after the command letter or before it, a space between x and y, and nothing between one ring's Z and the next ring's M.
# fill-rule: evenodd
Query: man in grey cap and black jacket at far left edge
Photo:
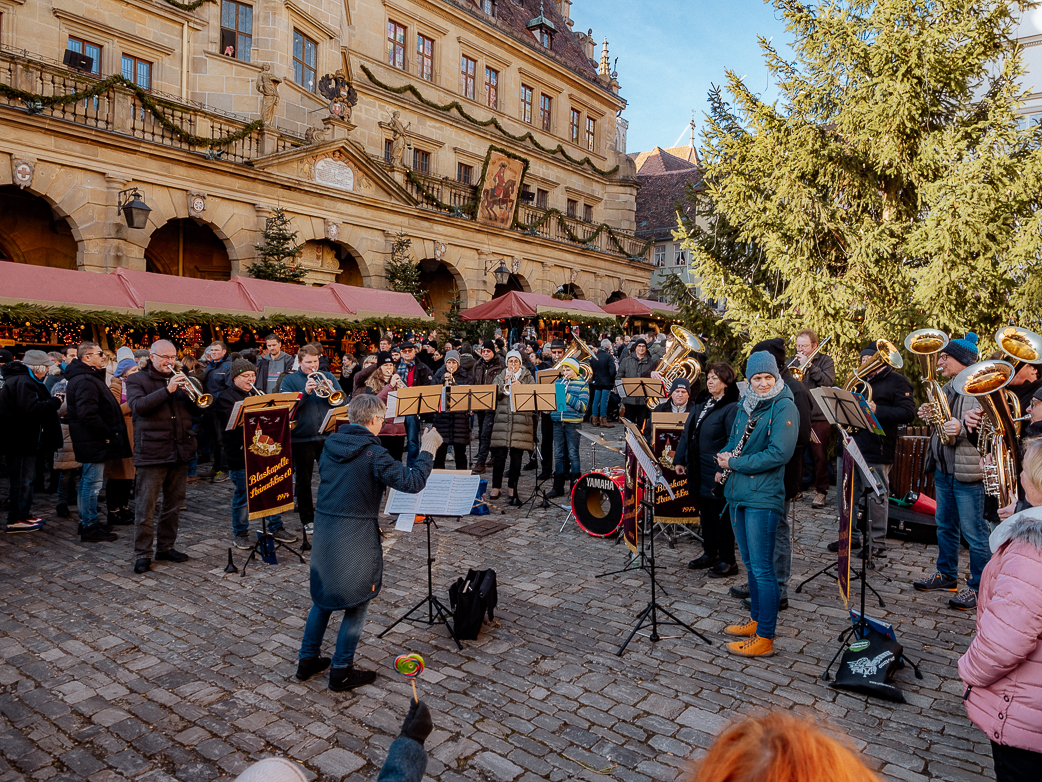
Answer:
M33 516L32 481L36 456L61 447L58 408L61 399L47 393L44 378L54 362L43 350L26 350L22 361L3 365L0 388L0 446L7 460L10 494L7 532L32 532L44 526Z

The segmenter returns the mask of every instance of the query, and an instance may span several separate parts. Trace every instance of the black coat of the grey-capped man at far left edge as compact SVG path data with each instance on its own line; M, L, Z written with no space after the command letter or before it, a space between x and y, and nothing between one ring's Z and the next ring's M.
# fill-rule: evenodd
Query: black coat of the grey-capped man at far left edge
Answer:
M15 457L57 450L65 443L58 408L61 399L51 396L43 383L20 361L3 365L0 388L0 447Z

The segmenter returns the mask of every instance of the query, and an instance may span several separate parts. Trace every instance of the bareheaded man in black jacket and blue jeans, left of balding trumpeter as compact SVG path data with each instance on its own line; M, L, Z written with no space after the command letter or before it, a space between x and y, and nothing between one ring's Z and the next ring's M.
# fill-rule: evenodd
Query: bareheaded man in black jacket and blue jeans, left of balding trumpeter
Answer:
M84 543L116 540L98 518L98 494L105 462L131 456L120 404L105 385L105 355L97 342L81 342L66 368L67 418L72 449L83 465L79 479L79 539Z

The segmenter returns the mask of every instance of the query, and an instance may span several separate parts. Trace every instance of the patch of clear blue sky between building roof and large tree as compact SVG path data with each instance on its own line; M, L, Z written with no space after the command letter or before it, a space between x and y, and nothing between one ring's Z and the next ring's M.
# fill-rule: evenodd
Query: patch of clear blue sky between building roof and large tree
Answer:
M768 99L775 96L756 35L773 36L784 51L788 34L774 8L759 0L574 0L571 17L573 29L593 28L598 58L604 38L612 62L619 58L629 152L673 146L692 109L700 130L710 85L722 84L727 70Z

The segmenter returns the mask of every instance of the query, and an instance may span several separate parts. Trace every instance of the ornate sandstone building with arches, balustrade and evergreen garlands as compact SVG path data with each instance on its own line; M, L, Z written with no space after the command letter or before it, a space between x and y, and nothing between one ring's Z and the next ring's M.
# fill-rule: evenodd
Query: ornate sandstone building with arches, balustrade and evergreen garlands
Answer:
M227 279L281 207L311 284L386 287L403 233L436 316L636 295L625 101L571 5L0 0L0 260Z

